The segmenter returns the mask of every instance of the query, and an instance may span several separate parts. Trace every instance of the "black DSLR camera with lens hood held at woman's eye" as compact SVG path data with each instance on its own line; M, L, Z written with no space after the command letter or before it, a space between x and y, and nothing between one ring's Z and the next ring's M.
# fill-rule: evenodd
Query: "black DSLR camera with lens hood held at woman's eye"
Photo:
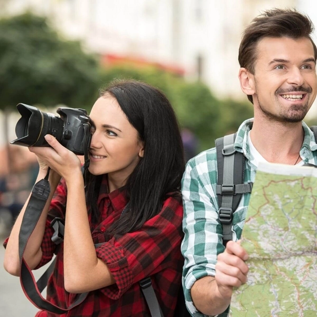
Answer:
M59 118L23 103L19 103L17 108L21 114L16 125L18 139L11 141L11 144L49 146L44 136L51 134L76 155L84 155L84 151L88 151L91 132L86 110L58 108Z

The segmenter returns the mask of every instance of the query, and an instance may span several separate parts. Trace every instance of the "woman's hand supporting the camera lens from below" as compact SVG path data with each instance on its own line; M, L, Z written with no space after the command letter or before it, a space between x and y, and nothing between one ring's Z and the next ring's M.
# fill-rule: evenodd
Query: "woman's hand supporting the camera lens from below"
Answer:
M62 146L53 136L46 135L45 139L51 147L29 147L30 151L38 157L40 170L47 171L49 166L63 177L66 182L75 177L77 173L81 175L79 158Z

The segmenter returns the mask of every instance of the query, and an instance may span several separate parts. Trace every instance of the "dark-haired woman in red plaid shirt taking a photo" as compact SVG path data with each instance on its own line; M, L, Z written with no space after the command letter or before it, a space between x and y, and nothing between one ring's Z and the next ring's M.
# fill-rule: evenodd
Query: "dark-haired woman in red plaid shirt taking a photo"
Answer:
M163 315L173 316L183 264L179 188L184 171L175 113L160 91L130 80L103 91L90 119L86 187L79 158L55 138L45 136L51 147L30 148L38 156L38 180L51 168L51 194L24 260L35 269L57 252L47 298L59 307L70 306L77 293L89 292L60 316L150 316L139 286L144 277L151 277ZM24 211L25 206L5 242L4 267L13 275L20 274ZM59 248L51 241L51 215L65 219ZM37 316L59 315L41 311Z

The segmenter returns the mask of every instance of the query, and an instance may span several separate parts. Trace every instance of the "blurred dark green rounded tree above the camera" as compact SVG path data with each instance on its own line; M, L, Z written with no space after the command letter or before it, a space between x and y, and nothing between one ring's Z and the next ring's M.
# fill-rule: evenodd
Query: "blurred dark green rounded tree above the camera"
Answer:
M17 103L85 108L97 97L98 61L43 17L0 20L0 109Z

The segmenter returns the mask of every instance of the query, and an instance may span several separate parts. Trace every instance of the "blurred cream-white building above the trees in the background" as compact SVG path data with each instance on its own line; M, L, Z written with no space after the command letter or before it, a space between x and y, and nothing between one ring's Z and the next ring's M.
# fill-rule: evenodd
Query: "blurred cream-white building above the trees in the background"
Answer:
M297 8L317 25L310 0L0 0L2 15L46 15L106 63L155 63L233 99L245 98L238 82L242 31L273 7Z

